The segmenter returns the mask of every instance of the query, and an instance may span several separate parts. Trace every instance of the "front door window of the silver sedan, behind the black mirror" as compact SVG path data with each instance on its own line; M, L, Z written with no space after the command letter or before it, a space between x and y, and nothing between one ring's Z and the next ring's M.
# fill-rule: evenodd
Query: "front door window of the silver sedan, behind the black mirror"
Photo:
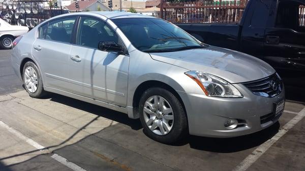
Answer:
M105 21L82 17L79 22L76 44L98 49L99 42L120 44L117 35Z

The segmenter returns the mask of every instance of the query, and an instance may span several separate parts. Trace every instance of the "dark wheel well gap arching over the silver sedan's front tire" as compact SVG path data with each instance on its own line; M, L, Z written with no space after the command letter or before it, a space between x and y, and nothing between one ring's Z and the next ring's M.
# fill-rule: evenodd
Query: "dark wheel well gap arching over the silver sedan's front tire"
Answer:
M140 98L142 96L142 94L144 93L145 90L149 89L149 88L152 88L152 87L159 87L159 88L164 88L168 91L170 91L171 93L173 93L174 96L176 96L178 98L178 100L181 102L182 104L182 107L185 111L185 113L187 114L187 111L186 111L186 108L184 106L184 103L181 99L181 97L179 96L179 94L176 92L175 89L173 89L171 86L169 86L168 84L166 83L163 83L161 81L145 81L143 83L141 83L135 93L134 93L134 96L133 96L133 113L136 114L136 116L139 116L138 115L138 109L139 109L139 102L140 102Z

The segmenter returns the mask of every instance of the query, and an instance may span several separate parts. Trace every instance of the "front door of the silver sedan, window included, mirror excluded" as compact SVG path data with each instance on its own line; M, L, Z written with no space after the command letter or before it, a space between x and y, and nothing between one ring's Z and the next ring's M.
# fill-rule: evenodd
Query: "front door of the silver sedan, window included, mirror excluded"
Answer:
M103 20L81 17L69 58L69 88L73 93L125 107L129 55L101 51L99 42L124 46Z

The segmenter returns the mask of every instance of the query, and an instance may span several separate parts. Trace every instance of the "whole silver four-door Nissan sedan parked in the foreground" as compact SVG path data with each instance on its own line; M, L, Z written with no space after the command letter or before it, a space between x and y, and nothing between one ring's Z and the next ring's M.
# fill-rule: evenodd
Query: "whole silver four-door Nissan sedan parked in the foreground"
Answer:
M285 104L264 61L145 15L56 16L17 38L12 56L30 96L53 92L126 113L162 143L253 133L277 122Z

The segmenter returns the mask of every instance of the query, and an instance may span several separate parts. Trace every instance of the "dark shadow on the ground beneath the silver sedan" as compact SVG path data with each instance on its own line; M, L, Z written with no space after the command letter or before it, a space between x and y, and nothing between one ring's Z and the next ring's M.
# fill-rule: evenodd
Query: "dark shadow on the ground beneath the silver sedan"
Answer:
M136 120L130 119L124 113L116 112L107 108L89 104L84 101L80 101L77 99L73 99L55 93L50 93L49 95L46 96L46 98L50 98L51 101L67 105L72 108L86 111L88 113L92 113L119 122L121 124L128 125L133 130L142 129L142 125L139 119ZM185 146L189 144L190 148L201 151L219 152L219 153L238 152L263 144L264 142L269 140L273 135L275 135L278 132L279 128L280 128L280 124L279 122L277 122L276 124L273 124L272 126L264 130L261 130L259 132L255 132L249 135L238 136L235 138L206 138L201 136L189 135L184 140L175 144L171 144L171 146ZM143 131L140 132L142 133Z

